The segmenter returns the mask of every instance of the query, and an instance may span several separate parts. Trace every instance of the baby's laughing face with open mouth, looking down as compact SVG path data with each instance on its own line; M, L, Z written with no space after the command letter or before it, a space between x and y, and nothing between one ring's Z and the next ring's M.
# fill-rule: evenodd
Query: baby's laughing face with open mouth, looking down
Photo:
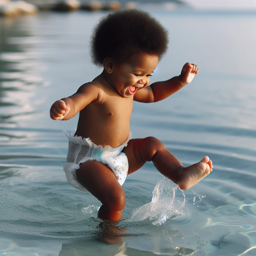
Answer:
M148 86L150 76L158 64L158 56L148 53L136 53L123 64L113 64L112 84L124 98Z

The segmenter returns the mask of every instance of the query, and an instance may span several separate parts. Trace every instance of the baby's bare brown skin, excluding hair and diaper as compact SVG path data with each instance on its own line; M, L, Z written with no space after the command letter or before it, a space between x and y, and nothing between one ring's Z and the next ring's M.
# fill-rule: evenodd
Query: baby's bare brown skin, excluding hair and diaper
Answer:
M140 52L125 63L118 64L111 58L103 62L103 72L92 82L85 83L78 91L56 101L50 110L54 120L68 120L79 112L75 135L90 138L103 147L118 147L129 135L133 100L155 102L169 97L190 83L198 72L195 64L186 63L179 76L156 82L149 86L150 77L158 64L158 56ZM212 161L204 157L194 165L184 167L154 137L132 139L123 152L129 162L128 174L135 172L147 161L181 189L188 189L212 171ZM97 161L87 161L76 171L78 181L102 206L98 217L119 221L125 206L125 193L108 166Z

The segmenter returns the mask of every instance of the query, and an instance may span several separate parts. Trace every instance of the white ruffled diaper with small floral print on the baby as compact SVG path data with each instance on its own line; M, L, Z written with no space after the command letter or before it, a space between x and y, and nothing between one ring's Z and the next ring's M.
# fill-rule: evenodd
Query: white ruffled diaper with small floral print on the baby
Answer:
M79 169L80 163L89 160L95 160L108 165L115 174L119 184L124 184L129 166L127 156L121 151L127 146L128 141L132 138L131 132L129 133L127 141L117 148L112 148L110 146L102 147L101 145L94 144L90 138L74 136L75 129L71 132L64 131L64 133L67 136L69 143L67 160L63 169L69 184L79 190L87 191L86 188L76 180L76 170Z

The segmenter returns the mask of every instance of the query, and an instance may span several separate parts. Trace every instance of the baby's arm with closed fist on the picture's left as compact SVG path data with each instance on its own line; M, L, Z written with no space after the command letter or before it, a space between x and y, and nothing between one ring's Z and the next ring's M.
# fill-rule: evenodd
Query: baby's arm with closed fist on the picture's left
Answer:
M53 120L68 120L98 98L99 89L93 84L83 84L78 91L53 103L50 117Z

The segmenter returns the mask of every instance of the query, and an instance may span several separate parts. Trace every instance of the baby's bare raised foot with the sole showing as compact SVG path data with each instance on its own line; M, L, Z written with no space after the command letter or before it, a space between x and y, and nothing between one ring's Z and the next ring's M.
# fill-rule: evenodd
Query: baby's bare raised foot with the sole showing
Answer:
M212 161L204 157L200 162L184 167L177 182L180 189L189 189L212 172Z

